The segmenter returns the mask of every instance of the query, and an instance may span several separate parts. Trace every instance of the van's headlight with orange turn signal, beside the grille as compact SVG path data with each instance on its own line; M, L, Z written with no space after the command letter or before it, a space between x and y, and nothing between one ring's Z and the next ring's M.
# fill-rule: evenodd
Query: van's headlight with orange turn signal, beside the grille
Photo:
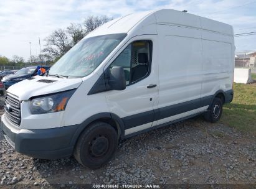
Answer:
M75 90L54 93L31 99L29 109L31 114L46 114L64 111Z

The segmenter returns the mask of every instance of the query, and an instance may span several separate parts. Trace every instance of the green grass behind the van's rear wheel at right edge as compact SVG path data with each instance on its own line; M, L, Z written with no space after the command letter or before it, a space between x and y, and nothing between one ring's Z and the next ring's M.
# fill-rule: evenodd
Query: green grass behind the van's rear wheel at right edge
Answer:
M256 74L254 74L256 79ZM234 99L224 105L222 123L256 134L256 85L234 83Z

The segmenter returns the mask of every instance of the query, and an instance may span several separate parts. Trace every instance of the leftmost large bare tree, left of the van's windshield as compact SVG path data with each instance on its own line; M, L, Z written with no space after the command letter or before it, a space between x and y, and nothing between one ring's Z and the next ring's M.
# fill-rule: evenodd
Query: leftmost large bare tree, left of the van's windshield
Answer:
M45 41L43 52L51 57L62 57L71 48L69 37L63 29L55 30Z

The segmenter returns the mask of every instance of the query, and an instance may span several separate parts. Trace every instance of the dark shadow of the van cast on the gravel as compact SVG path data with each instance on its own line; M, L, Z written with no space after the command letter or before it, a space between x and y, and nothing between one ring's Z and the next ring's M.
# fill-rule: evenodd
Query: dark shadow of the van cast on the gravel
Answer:
M148 155L151 155L150 153L161 153L161 149L164 147L161 139L166 138L171 140L171 137L169 136L171 133L174 133L177 137L179 132L184 131L184 126L187 123L197 120L202 121L202 116L197 116L195 118L188 119L187 121L154 129L153 131L145 132L143 134L139 134L138 136L125 139L118 145L116 154L111 162L101 168L98 168L97 170L90 170L89 168L83 167L82 165L78 164L73 157L59 160L34 159L33 167L36 167L34 169L37 170L40 177L44 178L50 185L53 186L55 184L62 183L65 184L66 187L71 187L74 183L78 185L92 183L115 183L118 181L118 177L125 177L125 175L122 175L124 170L128 170L128 173L125 173L126 176L128 175L131 178L137 178L138 175L133 176L133 169L136 169L135 162L141 162L138 164L138 166L141 167L141 172L147 170L151 175L153 175L153 168L152 166L145 164L145 158ZM193 126L193 124L188 125L189 126L186 126L185 130L187 130L187 127L191 127L191 130L194 129L194 131L197 130L194 128L195 126ZM168 148L177 149L178 147L170 147L168 145ZM147 152L148 150L150 150L150 152ZM143 156L142 158L141 155ZM157 154L157 156L159 155L160 154ZM120 173L120 175L116 175L116 173ZM147 174L148 173L145 171L145 175ZM128 179L128 176L124 179ZM143 178L140 179L143 180ZM156 180L156 178L151 176L147 179L149 183Z

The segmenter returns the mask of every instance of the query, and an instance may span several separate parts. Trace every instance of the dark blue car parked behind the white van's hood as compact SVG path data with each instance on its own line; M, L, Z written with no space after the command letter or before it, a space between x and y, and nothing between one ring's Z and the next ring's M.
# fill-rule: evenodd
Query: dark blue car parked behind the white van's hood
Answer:
M49 70L50 66L42 66L45 70ZM2 82L4 83L5 88L9 88L9 86L18 83L19 81L26 80L27 78L31 78L32 76L37 75L37 67L26 67L21 68L13 75L4 76L2 78Z

